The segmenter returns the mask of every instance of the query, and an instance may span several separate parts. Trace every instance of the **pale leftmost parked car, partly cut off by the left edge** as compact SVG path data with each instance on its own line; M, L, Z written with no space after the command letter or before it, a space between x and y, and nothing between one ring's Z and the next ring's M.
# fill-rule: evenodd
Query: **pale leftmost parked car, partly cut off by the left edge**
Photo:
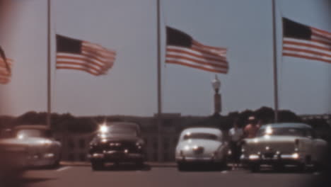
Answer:
M13 162L12 167L54 167L61 159L61 143L43 125L19 125L0 139L0 152Z

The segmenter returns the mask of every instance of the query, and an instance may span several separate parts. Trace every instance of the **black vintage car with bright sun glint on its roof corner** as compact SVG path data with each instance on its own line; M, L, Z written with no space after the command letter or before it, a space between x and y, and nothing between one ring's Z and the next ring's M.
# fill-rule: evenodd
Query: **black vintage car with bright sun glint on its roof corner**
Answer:
M93 170L103 169L105 163L134 162L144 164L144 140L136 123L105 123L90 143L88 159Z

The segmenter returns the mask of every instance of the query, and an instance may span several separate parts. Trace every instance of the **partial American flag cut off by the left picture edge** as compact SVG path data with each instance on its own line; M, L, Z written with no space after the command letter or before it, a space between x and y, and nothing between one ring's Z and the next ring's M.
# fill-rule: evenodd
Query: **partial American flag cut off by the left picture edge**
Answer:
M11 81L11 64L13 60L6 58L4 50L0 47L0 84Z

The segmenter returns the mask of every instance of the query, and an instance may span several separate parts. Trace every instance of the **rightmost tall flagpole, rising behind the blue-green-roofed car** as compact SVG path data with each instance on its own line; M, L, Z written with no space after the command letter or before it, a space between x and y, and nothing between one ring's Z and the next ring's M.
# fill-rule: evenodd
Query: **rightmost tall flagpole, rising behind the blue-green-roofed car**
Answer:
M278 122L278 71L277 71L277 33L275 0L272 0L272 35L274 50L274 123Z

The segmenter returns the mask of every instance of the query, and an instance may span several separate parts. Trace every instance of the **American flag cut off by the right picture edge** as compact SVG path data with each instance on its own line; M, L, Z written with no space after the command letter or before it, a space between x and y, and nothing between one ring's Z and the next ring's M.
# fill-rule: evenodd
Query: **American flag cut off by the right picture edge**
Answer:
M283 18L283 55L331 63L331 33Z

